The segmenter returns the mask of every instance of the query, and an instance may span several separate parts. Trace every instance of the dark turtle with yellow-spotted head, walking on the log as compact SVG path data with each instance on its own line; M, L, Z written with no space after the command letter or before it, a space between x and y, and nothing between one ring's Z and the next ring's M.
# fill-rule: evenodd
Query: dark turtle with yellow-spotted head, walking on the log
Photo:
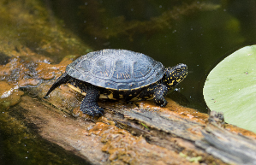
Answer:
M91 116L101 116L99 98L126 101L153 100L165 107L165 96L188 75L186 64L164 68L152 57L131 50L105 49L87 53L70 63L46 93L67 84L85 97L80 110Z

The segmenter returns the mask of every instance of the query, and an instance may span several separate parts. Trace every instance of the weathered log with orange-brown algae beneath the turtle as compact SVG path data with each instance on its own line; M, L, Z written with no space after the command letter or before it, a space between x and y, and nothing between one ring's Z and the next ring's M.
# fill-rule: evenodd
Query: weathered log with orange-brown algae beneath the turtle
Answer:
M23 116L19 120L33 125L42 138L92 164L256 163L255 134L225 124L219 113L201 114L170 99L165 108L152 101L100 100L104 116L92 118L80 112L82 96L67 85L43 98L70 62L64 58L51 65L15 58L0 66L6 80L0 81L2 105L16 110ZM17 68L22 76L17 77ZM8 81L14 79L14 84Z

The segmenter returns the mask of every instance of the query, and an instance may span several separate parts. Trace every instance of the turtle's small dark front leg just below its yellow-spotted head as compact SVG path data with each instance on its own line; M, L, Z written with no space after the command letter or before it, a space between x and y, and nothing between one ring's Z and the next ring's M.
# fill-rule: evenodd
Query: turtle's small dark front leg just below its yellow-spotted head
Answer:
M168 92L168 87L163 84L158 84L155 88L155 92L153 95L153 100L157 105L160 105L161 107L165 107L166 104L168 103L165 100L165 96Z

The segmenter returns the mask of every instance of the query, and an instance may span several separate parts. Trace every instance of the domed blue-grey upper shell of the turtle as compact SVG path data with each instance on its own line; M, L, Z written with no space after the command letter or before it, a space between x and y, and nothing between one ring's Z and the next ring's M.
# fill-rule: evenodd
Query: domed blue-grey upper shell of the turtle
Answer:
M133 90L162 79L164 66L130 50L99 50L80 56L66 68L71 77L113 90Z

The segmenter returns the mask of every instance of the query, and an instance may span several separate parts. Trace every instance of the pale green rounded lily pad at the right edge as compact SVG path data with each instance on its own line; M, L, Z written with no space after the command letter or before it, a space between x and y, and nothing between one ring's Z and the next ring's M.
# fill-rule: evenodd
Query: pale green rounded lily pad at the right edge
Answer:
M219 62L205 81L204 97L226 122L256 133L256 45Z

